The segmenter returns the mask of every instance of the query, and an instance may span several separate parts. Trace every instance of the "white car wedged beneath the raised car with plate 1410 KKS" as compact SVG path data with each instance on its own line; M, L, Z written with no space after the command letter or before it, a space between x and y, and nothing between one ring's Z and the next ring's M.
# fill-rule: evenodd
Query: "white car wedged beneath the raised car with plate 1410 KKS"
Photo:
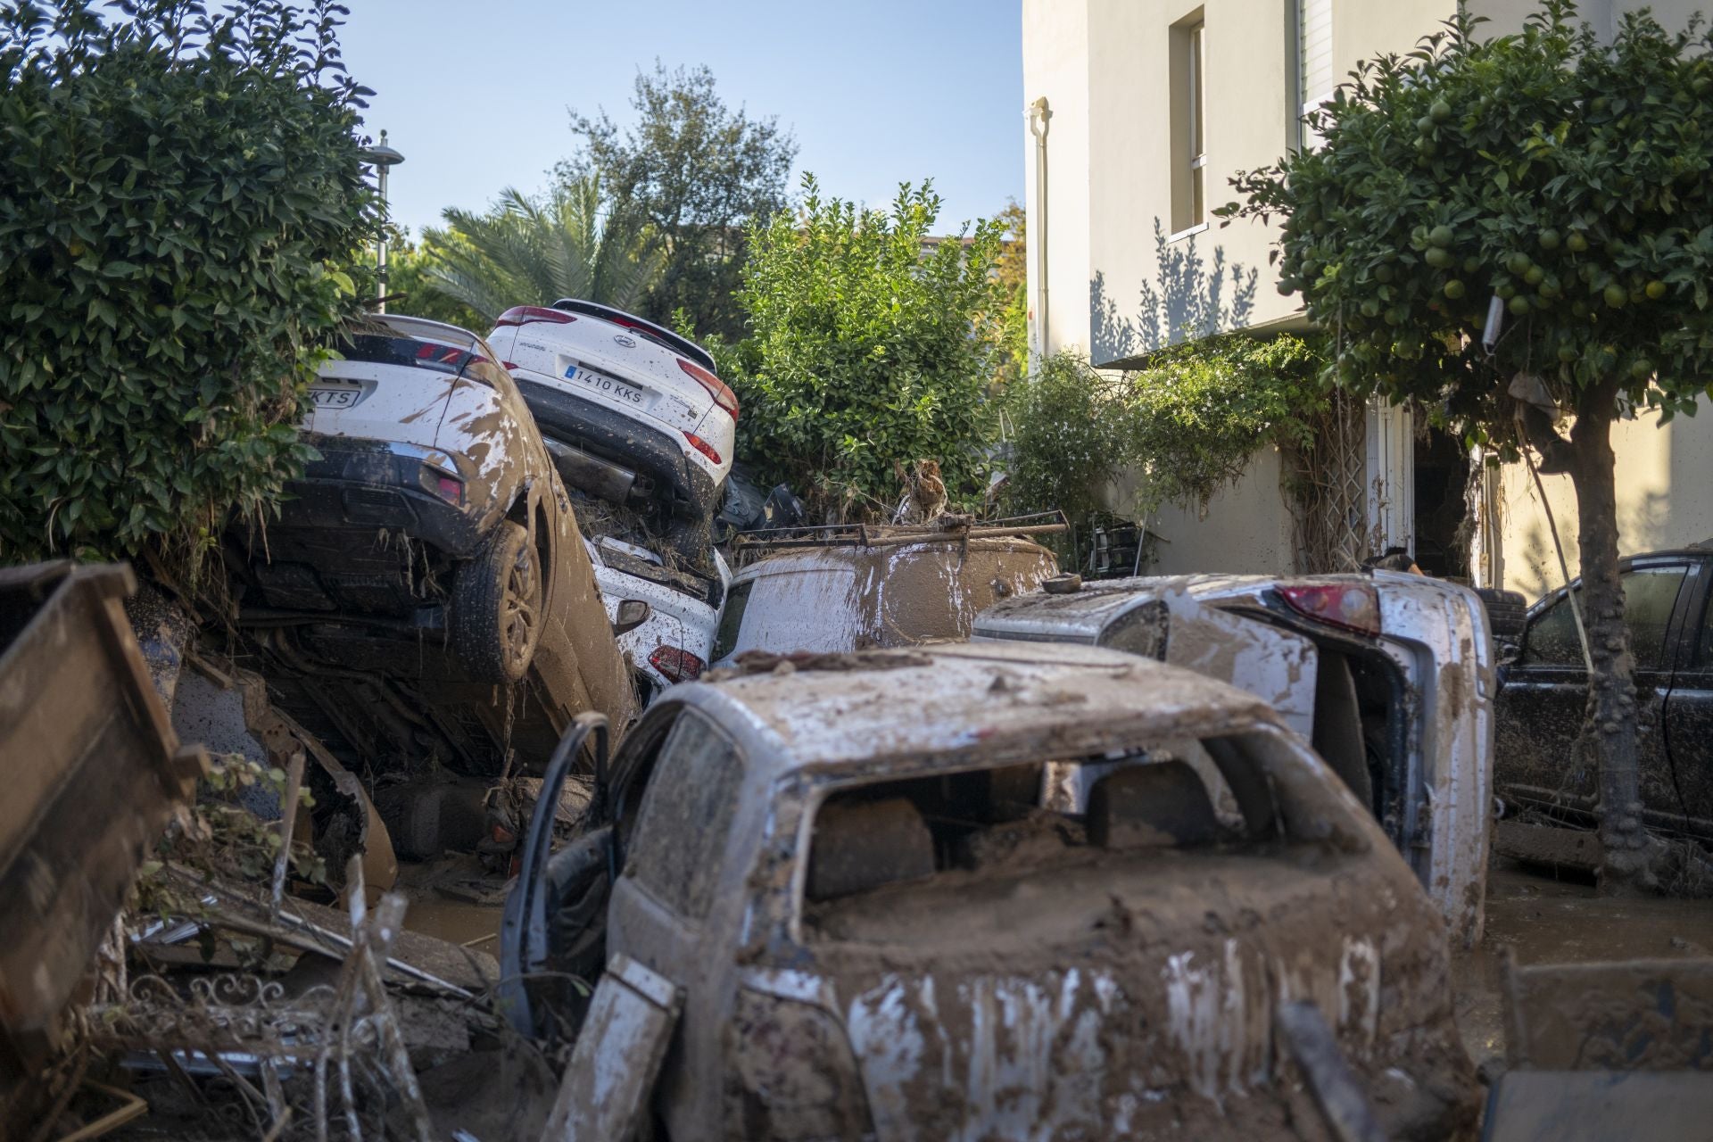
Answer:
M716 574L695 575L670 568L654 551L615 536L601 536L588 548L641 704L673 683L695 681L713 659L719 611L731 586L719 551L711 556ZM646 603L648 610L641 616L641 608L625 611L632 601Z

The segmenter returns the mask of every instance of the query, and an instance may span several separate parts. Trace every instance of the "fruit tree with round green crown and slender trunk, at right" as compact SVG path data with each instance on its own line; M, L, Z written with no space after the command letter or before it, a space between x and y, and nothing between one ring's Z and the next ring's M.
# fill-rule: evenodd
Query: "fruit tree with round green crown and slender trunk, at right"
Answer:
M1317 115L1324 146L1240 175L1247 204L1227 212L1285 216L1280 288L1334 334L1338 384L1571 474L1602 883L1626 887L1650 878L1650 846L1610 425L1627 407L1692 413L1713 375L1713 45L1646 12L1600 43L1574 17L1549 0L1504 38L1459 17L1360 65ZM1506 325L1489 353L1494 296ZM1516 377L1574 418L1567 437L1509 396Z

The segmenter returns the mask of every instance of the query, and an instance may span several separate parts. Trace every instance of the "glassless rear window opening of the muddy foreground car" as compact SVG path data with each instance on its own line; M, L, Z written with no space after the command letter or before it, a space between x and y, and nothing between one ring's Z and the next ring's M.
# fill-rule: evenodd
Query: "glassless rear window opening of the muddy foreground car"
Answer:
M877 937L899 892L952 901L1136 861L1249 859L1348 841L1346 817L1302 746L1254 733L836 788L812 820L805 918L821 937Z

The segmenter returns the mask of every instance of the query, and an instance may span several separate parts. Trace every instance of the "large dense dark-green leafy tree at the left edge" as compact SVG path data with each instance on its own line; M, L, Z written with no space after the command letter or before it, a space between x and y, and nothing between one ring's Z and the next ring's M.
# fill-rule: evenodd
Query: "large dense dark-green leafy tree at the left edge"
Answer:
M0 558L194 570L301 471L377 229L344 9L0 3Z

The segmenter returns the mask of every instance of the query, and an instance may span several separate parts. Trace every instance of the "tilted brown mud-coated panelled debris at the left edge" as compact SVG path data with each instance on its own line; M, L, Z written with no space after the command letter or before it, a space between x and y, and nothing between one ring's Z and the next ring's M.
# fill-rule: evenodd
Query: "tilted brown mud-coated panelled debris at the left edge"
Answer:
M128 567L0 570L0 1101L60 1046L79 978L207 765L156 695L134 591Z

